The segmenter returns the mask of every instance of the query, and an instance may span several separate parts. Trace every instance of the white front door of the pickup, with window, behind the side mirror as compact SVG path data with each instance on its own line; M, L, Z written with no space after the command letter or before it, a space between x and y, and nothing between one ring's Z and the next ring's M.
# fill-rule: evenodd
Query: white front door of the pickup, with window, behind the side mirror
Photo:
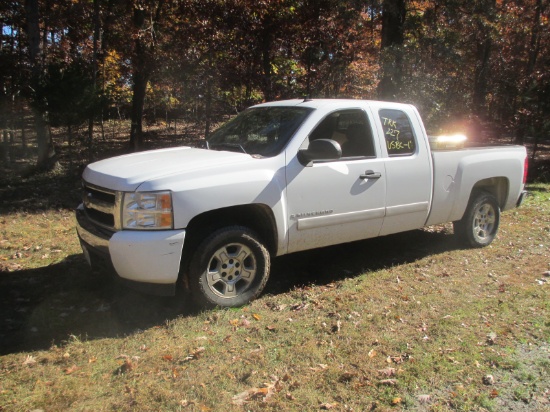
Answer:
M288 252L378 236L385 213L386 174L372 121L361 109L329 114L310 133L332 139L342 158L286 168Z

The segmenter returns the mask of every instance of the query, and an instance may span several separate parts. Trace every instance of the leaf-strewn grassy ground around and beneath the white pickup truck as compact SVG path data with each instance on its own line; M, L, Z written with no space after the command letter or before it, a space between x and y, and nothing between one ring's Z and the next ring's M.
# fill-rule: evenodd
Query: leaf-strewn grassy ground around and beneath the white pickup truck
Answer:
M550 410L550 185L484 249L450 225L275 259L198 312L87 268L74 176L0 190L0 411Z

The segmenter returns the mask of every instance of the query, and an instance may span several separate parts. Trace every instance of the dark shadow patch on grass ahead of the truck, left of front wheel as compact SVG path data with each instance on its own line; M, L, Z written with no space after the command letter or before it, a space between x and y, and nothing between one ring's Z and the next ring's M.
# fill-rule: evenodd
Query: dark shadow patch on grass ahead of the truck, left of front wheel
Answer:
M82 255L0 273L0 355L79 339L120 337L190 313L176 298L145 296L91 273Z

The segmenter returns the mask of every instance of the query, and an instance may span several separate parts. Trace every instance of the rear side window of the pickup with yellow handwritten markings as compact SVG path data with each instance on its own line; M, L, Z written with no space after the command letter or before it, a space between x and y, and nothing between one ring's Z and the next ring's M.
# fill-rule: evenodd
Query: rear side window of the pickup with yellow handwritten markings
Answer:
M401 110L379 111L389 156L410 156L416 152L416 140L407 115Z

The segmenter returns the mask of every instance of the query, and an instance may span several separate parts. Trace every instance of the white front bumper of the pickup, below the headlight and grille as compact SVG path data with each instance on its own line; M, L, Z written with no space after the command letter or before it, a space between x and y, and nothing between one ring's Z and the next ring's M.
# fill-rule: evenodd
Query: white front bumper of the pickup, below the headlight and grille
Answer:
M185 230L109 232L91 224L82 205L76 210L76 221L82 250L90 263L104 261L139 290L174 294Z

